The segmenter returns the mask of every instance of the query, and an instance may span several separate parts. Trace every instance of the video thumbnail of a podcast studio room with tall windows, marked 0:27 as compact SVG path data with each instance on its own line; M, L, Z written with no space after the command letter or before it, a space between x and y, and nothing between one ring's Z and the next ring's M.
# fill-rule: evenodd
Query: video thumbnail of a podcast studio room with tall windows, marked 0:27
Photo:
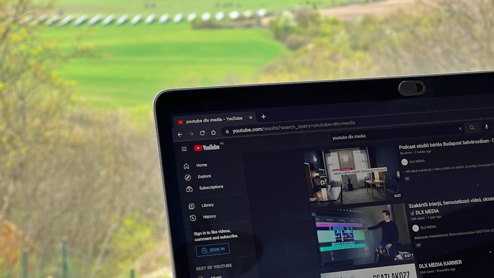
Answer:
M312 207L401 197L393 146L307 151L304 166Z

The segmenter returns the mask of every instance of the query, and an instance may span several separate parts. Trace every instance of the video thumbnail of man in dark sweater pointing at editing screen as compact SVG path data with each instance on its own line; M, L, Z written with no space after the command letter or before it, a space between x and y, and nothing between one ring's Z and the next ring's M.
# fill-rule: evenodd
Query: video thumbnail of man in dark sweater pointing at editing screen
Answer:
M413 259L403 203L312 215L323 267L392 264Z

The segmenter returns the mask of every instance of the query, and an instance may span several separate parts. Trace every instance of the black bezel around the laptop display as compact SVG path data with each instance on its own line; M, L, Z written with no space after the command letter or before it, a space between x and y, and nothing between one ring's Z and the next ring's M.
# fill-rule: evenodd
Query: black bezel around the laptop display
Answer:
M420 80L424 82L427 86L425 94L412 97L402 96L398 91L398 86L405 80ZM494 80L494 72L475 72L181 88L160 92L154 100L153 110L174 274L177 277L189 276L184 223L178 188L176 186L166 186L167 183L170 185L178 183L171 133L173 115L486 94L494 91L492 80ZM331 96L330 98L328 98L329 95Z

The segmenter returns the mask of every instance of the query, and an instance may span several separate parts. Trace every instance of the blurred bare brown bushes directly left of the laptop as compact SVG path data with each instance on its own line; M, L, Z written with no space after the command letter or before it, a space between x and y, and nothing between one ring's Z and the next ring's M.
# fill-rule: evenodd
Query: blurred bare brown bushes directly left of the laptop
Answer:
M82 277L101 277L118 271L118 254L133 258L142 249L124 250L132 244L149 246L129 238L117 248L114 235L124 221L138 213L143 227L153 231L156 242L165 232L159 167L151 132L138 133L124 112L73 110L67 116L66 138L57 148L28 156L23 189L14 198L14 219L39 246L39 269L56 275L57 243L69 238L72 269ZM122 254L119 254L119 252ZM128 267L128 266L127 266ZM110 271L111 270L111 271ZM103 275L105 276L105 275Z

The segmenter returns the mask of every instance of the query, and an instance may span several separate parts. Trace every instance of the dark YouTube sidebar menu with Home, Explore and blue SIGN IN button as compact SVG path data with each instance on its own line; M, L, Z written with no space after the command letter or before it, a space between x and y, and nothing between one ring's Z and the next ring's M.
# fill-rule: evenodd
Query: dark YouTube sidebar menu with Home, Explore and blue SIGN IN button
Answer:
M183 142L176 154L191 277L258 277L239 148Z

